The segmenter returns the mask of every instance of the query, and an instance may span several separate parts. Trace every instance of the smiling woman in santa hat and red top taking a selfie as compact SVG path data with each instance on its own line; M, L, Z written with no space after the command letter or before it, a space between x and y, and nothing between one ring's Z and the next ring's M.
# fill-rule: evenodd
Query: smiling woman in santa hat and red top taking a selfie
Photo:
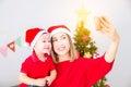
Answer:
M64 25L48 28L56 63L57 78L50 87L92 87L112 67L119 46L119 35L105 16L96 17L97 30L107 35L110 45L104 55L97 59L76 58L70 29Z

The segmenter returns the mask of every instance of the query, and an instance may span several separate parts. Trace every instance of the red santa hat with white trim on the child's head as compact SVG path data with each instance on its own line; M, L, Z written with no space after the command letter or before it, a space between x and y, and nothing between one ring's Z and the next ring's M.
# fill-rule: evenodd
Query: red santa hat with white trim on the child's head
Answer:
M38 38L44 33L47 33L47 30L38 28L38 27L27 29L26 35L25 35L26 44L33 48L35 46L36 41L38 40Z

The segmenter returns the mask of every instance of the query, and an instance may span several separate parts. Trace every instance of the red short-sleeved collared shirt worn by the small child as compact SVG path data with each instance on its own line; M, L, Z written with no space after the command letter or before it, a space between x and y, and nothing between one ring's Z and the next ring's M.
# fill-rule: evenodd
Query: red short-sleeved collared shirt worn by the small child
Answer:
M47 55L47 60L43 62L36 57L35 52L22 63L21 67L21 72L32 78L48 76L52 70L55 70L55 65L50 55ZM27 87L27 85L21 84L20 87Z

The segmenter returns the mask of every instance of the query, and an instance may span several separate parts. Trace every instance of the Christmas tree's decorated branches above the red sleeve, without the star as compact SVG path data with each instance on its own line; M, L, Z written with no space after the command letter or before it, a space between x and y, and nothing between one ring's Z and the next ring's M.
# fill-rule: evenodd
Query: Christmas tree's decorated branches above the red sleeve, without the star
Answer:
M95 46L95 41L93 41L90 36L90 29L84 27L84 22L81 21L75 29L74 35L74 46L76 50L80 52L81 57L93 58L93 54L96 52L97 47Z

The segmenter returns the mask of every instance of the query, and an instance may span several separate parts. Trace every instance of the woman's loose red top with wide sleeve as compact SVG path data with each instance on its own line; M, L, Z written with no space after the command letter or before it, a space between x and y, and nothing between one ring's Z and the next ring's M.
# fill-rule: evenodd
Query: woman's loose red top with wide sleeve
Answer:
M63 61L56 64L57 78L50 87L92 87L112 67L105 57L98 59L76 59L73 62Z

